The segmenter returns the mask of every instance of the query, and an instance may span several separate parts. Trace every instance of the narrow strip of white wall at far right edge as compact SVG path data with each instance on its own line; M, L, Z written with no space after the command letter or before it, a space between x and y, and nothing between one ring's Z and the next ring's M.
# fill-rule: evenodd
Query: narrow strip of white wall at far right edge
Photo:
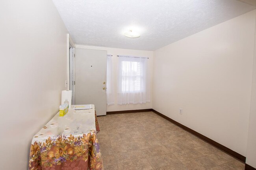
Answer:
M255 29L256 32L256 29ZM250 120L247 143L246 163L256 168L256 34L254 41L254 61L252 76L252 96L250 102Z

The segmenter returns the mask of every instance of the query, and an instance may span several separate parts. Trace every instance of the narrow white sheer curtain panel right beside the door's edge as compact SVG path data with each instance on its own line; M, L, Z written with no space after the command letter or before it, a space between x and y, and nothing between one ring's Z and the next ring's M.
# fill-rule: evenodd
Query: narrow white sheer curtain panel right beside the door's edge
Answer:
M107 55L107 105L115 104L112 80L112 55Z

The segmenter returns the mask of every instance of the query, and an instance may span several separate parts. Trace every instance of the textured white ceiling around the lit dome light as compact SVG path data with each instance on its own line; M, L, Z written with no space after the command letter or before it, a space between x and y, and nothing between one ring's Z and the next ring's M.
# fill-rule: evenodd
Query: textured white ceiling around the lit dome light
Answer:
M239 16L238 0L53 0L75 44L154 51ZM140 38L127 38L130 27Z

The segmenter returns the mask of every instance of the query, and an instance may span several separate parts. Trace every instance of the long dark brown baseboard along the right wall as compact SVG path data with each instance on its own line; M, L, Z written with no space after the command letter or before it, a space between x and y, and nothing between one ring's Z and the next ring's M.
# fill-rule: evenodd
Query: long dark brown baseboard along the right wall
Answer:
M204 135L202 135L202 134L196 132L195 130L192 130L192 129L188 128L187 126L184 126L183 124L180 124L179 122L174 121L173 119L171 119L171 118L169 118L169 117L163 115L163 114L160 113L160 112L157 112L157 111L154 110L154 109L152 109L152 112L154 112L154 113L160 115L161 117L167 119L168 121L172 122L173 124L176 124L177 126L179 126L180 128L186 130L187 132L192 133L193 135L196 135L196 136L199 137L200 139L206 141L207 143L209 143L209 144L215 146L216 148L222 150L223 152L226 152L227 154L229 154L229 155L235 157L236 159L238 159L239 161L245 163L245 156L243 156L243 155L241 155L241 154L238 154L237 152L235 152L235 151L233 151L233 150L227 148L226 146L223 146L222 144L213 141L212 139L210 139L210 138L208 138L208 137L206 137L206 136L204 136ZM248 165L248 166L250 166L250 165ZM246 168L245 168L245 169L246 169ZM255 168L254 168L254 169L248 169L248 170L255 170Z

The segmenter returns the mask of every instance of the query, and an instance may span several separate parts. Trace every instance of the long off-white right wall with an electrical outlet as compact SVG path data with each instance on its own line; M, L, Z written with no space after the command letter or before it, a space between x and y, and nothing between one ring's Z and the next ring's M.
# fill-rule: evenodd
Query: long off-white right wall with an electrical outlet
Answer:
M254 31L255 10L154 51L153 109L245 156Z

